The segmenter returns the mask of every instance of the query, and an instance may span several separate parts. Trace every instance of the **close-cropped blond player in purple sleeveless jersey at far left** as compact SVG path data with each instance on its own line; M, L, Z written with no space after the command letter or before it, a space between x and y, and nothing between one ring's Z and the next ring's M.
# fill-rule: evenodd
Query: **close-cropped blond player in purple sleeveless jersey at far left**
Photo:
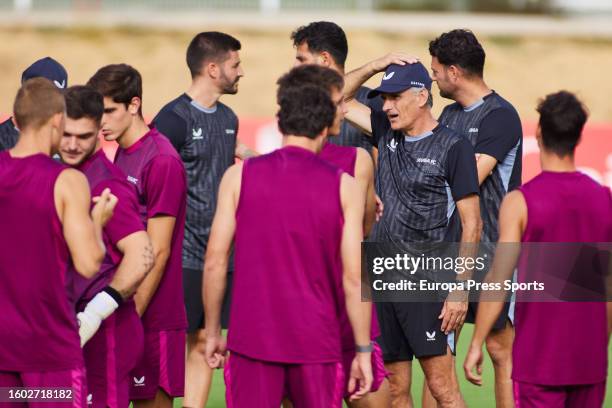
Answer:
M79 329L64 283L71 263L86 278L99 271L102 229L117 198L105 189L90 210L85 176L50 158L65 110L49 80L26 81L13 108L19 140L0 152L0 387L61 388L67 404L86 406Z

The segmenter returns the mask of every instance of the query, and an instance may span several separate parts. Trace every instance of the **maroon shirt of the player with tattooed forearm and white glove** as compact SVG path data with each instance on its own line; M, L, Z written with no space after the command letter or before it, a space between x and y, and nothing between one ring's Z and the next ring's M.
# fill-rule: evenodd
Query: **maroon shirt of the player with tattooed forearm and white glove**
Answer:
M113 217L104 227L106 255L100 272L92 279L85 279L73 268L68 274L67 289L71 302L84 305L113 279L123 258L117 243L130 234L144 231L145 228L138 214L136 189L127 182L125 174L106 158L102 149L89 157L78 169L87 177L92 197L109 188L118 198ZM77 309L80 307L77 306Z

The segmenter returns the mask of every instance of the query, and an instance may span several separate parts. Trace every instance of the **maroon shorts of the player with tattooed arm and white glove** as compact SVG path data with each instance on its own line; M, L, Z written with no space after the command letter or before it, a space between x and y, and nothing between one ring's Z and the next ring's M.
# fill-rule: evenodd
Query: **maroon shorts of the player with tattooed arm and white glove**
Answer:
M142 323L134 303L127 302L102 322L83 348L91 407L129 405L130 371L142 358L143 348Z

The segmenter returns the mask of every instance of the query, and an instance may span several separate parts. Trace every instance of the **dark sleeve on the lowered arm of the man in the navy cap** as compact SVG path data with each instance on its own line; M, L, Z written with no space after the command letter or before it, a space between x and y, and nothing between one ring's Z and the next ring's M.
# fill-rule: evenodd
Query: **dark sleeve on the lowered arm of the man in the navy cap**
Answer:
M446 179L455 201L479 192L474 149L465 138L460 138L448 151Z

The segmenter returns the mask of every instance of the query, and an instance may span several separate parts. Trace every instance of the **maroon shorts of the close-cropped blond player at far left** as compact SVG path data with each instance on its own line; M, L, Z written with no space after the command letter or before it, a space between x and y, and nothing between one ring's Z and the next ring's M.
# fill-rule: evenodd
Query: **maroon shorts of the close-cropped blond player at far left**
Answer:
M70 407L82 408L87 406L87 382L85 368L62 371L39 371L39 372L6 372L0 371L0 388L26 387L31 389L60 388L65 389L72 401L60 402L51 400L38 400L29 402L0 402L2 408L15 407Z

